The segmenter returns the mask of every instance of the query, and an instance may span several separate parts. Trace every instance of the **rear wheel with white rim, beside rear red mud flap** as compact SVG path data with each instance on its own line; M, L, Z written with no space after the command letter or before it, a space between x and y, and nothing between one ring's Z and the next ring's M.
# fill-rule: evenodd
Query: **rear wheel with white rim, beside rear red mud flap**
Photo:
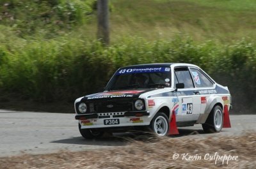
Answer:
M223 110L216 105L212 108L206 122L202 124L205 133L219 133L223 127Z

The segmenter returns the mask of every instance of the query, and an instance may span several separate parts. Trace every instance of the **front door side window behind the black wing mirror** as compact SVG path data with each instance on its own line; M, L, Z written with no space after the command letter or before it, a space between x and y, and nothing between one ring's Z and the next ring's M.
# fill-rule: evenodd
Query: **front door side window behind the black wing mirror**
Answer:
M175 68L175 75L179 83L184 83L185 88L194 87L188 68Z

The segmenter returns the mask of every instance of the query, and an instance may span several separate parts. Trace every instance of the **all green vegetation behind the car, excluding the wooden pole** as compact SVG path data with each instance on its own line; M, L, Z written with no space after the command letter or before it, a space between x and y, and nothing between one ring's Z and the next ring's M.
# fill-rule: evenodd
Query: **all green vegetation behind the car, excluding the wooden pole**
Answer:
M1 96L72 106L120 66L189 62L228 85L236 111L256 110L253 0L109 2L111 45L104 47L95 40L93 0L1 1Z

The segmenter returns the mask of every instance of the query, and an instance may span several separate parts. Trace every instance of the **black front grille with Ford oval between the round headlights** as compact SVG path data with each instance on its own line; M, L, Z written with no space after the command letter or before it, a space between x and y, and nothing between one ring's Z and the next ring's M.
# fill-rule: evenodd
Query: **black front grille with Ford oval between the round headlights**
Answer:
M97 113L127 112L132 110L132 101L101 101L94 107Z

